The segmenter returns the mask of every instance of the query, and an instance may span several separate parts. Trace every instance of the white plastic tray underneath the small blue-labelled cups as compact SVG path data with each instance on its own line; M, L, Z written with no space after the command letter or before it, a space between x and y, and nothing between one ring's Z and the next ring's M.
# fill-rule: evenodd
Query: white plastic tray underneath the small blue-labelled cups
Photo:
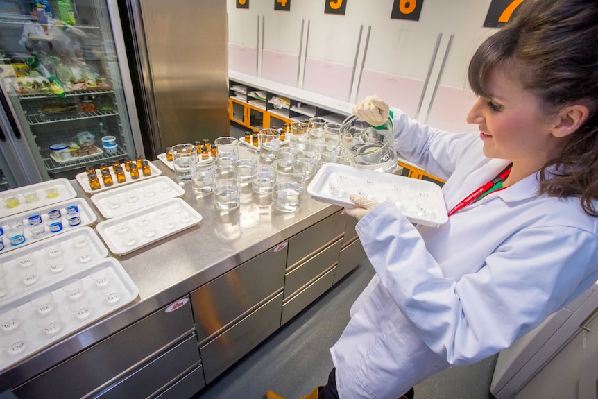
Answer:
M81 221L81 223L79 223L76 226L70 226L69 222L67 221L67 207L73 206L73 205L78 208L79 218ZM60 221L62 222L62 230L60 230L58 232L51 232L49 230L48 226L46 226L46 231L44 232L43 235L41 235L40 237L33 237L31 232L29 231L30 226L29 226L29 222L28 222L27 218L33 214L38 214L42 217L42 223L46 223L46 221L48 221L48 219L49 219L48 212L51 210L60 210L60 214L62 214L62 216L60 217ZM89 225L95 223L97 219L98 219L98 217L97 217L96 213L94 212L94 210L92 210L92 207L89 206L87 201L85 201L83 198L73 198L69 201L63 201L61 203L47 205L45 207L42 207L42 208L39 208L36 210L31 210L29 212L23 212L21 214L15 214L12 217L0 219L0 226L2 226L2 228L4 229L4 235L3 235L4 249L0 250L0 254L14 251L17 248L21 248L22 246L28 246L29 244L33 244L38 241L45 241L45 239L47 239L49 237L54 237L55 235L61 235L65 232L68 232L68 231L71 231L74 229L78 229L83 226L89 226ZM8 232L10 231L10 226L17 226L19 224L22 225L20 228L23 229L23 235L25 237L25 241L22 244L13 246L12 244L10 244L10 240L8 239Z

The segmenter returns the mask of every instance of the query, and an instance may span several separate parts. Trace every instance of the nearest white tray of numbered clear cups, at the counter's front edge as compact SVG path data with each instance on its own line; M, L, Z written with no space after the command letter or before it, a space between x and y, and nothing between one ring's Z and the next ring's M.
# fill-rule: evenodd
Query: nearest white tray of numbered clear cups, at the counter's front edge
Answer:
M133 302L139 289L108 257L0 302L0 372Z

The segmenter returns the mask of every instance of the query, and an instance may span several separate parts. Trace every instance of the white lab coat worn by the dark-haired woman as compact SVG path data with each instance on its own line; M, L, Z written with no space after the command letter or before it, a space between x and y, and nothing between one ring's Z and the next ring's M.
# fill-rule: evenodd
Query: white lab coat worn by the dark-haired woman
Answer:
M445 133L395 114L398 151L447 178L447 209L509 161L477 133ZM598 279L598 218L577 198L536 194L529 176L414 227L388 201L357 223L376 275L331 348L341 399L396 399L447 368L506 348Z

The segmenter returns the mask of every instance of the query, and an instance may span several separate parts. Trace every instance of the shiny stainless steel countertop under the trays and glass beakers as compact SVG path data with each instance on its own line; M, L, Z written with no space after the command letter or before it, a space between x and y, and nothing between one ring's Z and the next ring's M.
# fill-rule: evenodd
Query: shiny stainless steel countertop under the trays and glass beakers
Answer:
M162 176L176 181L174 172L160 160L153 164L162 171ZM71 183L78 196L86 198L91 204L98 215L98 223L102 221L100 212L89 200L90 195L81 189L76 180ZM275 212L271 210L269 198L259 198L251 192L250 187L244 187L241 206L230 212L219 212L214 208L211 195L200 198L194 193L190 182L179 185L185 189L182 198L202 215L200 224L128 255L119 257L110 254L119 260L139 287L139 298L8 368L0 374L0 392L25 382L173 300L189 294L341 209L314 201L304 192L298 212ZM241 223L241 217L249 213L259 216L258 226ZM248 227L241 227L241 224Z

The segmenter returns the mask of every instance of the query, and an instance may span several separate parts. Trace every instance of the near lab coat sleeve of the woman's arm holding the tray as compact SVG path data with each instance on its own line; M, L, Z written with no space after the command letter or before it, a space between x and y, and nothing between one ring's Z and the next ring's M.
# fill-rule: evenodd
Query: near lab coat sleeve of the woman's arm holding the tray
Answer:
M510 346L598 278L596 237L568 226L515 232L459 281L443 276L391 203L369 212L357 232L382 285L450 364L472 364Z

